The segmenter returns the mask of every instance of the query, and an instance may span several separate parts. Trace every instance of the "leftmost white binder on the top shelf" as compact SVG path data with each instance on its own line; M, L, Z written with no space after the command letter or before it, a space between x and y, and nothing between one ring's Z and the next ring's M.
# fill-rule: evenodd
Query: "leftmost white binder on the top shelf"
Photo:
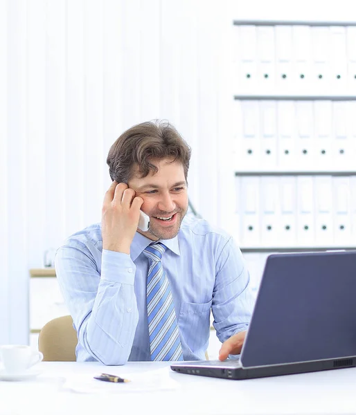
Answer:
M238 82L235 93L256 93L258 92L256 26L238 26L237 35L238 41L235 47L238 64L235 68Z

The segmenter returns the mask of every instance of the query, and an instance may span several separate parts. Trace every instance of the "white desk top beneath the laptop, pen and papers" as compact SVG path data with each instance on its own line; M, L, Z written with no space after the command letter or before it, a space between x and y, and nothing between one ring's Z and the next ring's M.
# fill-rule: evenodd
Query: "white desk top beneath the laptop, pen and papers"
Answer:
M43 372L34 380L0 382L1 415L356 414L356 368L224 380L177 374L167 362L132 362L121 367L42 362L37 367ZM91 380L102 372L132 382ZM68 388L79 385L79 378L94 382L94 390L80 393Z

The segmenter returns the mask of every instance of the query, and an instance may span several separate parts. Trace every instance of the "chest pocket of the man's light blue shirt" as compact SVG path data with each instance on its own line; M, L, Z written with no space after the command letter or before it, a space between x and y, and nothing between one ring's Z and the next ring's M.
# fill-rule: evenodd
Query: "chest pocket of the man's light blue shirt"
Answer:
M184 338L204 338L210 329L210 310L213 300L207 303L181 303L178 324Z

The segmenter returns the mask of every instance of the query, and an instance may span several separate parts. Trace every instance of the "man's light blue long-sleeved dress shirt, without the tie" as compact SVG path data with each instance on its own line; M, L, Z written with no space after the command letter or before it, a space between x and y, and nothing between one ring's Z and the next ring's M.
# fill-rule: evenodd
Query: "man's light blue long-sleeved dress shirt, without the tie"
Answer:
M130 255L103 250L101 225L73 234L57 250L55 270L78 333L78 362L124 365L151 360L146 305L152 241L136 232ZM254 297L249 273L233 239L204 219L186 216L167 246L162 265L175 305L184 360L204 360L210 313L224 342L247 330Z

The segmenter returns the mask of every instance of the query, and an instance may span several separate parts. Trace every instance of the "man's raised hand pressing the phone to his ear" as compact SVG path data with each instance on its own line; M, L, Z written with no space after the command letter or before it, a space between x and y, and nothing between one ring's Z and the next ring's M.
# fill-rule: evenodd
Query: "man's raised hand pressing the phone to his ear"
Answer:
M141 197L127 184L116 181L107 190L102 211L103 249L130 255L140 218Z

